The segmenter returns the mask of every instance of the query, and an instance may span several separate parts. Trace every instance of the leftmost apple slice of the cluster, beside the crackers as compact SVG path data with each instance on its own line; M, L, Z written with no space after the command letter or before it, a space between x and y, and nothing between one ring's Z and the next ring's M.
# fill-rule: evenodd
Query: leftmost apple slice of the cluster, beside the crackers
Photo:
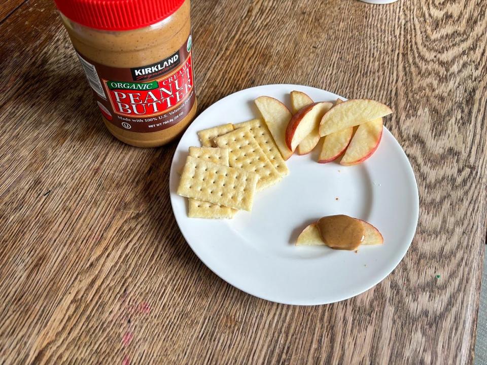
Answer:
M289 159L293 152L286 145L286 128L292 118L291 112L281 101L270 96L258 97L255 99L255 104L262 114L281 155L285 160Z

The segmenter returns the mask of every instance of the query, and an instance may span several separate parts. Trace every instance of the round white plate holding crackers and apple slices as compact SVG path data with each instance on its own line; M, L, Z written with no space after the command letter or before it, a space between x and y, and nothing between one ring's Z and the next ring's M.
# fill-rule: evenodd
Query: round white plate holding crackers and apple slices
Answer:
M261 95L290 106L292 90L303 91L315 101L338 97L306 86L266 85L239 91L208 107L179 142L170 172L171 204L188 244L223 280L273 302L333 303L363 293L389 275L416 230L419 198L414 173L387 129L375 154L357 166L319 164L316 153L292 156L287 162L290 174L258 192L252 212L239 211L232 220L188 218L187 199L176 194L177 171L188 148L200 145L197 131L258 117L253 100ZM304 227L331 214L370 222L385 244L364 246L358 253L294 246Z

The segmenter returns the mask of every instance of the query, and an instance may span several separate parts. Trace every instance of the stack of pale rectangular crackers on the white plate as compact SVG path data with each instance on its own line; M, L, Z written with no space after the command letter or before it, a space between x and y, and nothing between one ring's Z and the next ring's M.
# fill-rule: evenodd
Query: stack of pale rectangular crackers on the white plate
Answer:
M190 147L178 194L189 198L188 216L232 218L252 210L256 191L289 173L265 123L259 119L198 132Z

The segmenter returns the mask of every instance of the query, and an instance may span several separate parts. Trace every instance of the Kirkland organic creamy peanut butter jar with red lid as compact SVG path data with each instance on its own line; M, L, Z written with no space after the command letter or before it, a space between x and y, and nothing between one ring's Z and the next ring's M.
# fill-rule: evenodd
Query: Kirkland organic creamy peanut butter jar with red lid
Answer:
M54 0L108 130L136 147L196 114L190 0Z

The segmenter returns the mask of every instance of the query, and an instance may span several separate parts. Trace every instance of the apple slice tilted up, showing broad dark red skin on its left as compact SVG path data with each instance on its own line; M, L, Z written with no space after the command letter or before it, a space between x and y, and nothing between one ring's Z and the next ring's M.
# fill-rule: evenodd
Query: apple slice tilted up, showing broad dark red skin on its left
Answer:
M314 129L317 129L323 115L332 107L329 102L317 102L303 107L296 113L286 129L286 144L291 151Z

